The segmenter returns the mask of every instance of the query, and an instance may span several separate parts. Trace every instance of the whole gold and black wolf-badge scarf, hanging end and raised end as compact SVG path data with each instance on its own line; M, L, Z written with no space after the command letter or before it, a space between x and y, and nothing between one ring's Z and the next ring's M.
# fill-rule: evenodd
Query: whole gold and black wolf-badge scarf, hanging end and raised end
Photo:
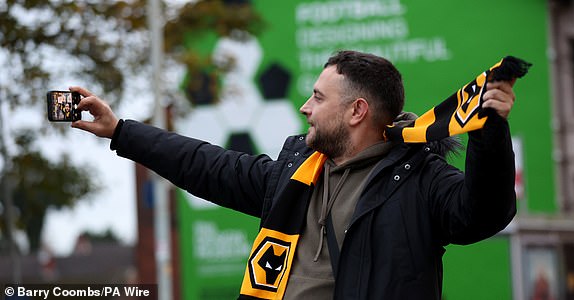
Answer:
M388 127L385 138L425 143L480 129L488 118L482 109L482 96L488 82L520 78L529 67L529 63L518 58L505 57L414 123ZM253 242L239 299L283 298L295 248L305 225L308 202L326 159L324 154L313 153L295 171L274 202Z

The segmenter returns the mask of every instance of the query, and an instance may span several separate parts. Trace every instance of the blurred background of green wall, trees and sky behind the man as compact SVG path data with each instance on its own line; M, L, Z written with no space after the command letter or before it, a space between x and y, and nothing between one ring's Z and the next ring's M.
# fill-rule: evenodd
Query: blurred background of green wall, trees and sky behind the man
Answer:
M0 0L0 283L235 299L258 220L48 122L46 92L84 86L121 118L275 158L326 59L354 49L397 65L419 115L506 55L533 63L510 116L518 215L446 247L443 297L574 299L574 1L420 2Z

